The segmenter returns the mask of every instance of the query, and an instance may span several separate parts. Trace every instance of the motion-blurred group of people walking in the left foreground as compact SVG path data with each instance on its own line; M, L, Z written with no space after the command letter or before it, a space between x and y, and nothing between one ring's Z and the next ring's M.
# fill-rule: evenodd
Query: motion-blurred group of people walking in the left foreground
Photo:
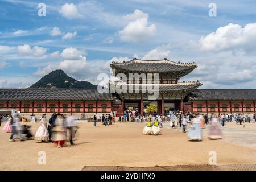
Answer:
M76 123L74 122L75 117L67 117L65 114L55 113L52 114L51 118L48 121L46 114L43 114L39 119L40 126L36 131L34 140L36 142L52 142L56 144L58 148L65 146L65 142L69 140L71 145L74 145L73 138L75 137L76 131L78 129ZM7 122L3 127L3 132L11 133L9 138L10 142L14 142L14 136L19 137L20 141L26 139L33 139L33 136L30 132L30 126L21 124L22 118L17 115L12 117L11 115L7 116ZM69 138L67 138L67 133L69 133Z

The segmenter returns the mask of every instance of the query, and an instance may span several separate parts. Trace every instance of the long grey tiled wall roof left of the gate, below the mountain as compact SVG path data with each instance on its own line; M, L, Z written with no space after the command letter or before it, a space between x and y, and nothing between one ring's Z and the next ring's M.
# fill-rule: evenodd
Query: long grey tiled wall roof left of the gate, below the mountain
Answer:
M97 89L0 89L0 100L115 100Z

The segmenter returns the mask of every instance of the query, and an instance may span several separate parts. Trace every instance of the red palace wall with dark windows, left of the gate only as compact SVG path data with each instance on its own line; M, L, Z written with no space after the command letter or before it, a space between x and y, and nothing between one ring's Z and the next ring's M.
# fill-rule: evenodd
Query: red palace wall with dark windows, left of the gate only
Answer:
M0 109L16 109L24 117L38 116L47 113L47 117L53 113L67 115L81 115L85 113L88 118L93 114L110 113L111 101L0 101Z

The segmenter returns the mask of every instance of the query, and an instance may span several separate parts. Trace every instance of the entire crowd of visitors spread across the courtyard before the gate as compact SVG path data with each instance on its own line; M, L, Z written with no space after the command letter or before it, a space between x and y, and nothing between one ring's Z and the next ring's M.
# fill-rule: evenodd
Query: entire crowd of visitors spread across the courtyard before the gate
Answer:
M111 114L102 114L93 116L93 126L96 127L97 121L101 121L102 125L109 126L112 122L118 118L115 111ZM5 126L3 126L3 131L5 133L11 133L10 142L14 141L14 136L17 135L21 141L24 138L31 139L32 134L30 133L30 126L21 125L20 121L26 122L26 119L20 116L12 117L7 115L4 117L0 115L0 126L3 121L7 121ZM46 114L43 114L39 119L40 126L36 131L34 140L37 142L52 142L55 143L57 147L61 148L65 145L65 142L69 140L70 144L73 145L73 137L78 129L76 123L74 122L74 116L66 116L65 114L52 114L49 118L47 125ZM123 116L119 117L121 122L146 122L146 126L143 128L143 134L145 135L159 135L160 127L163 127L164 122L170 122L170 128L176 129L177 127L182 128L184 133L187 133L187 125L189 124L188 138L189 140L202 140L202 129L205 125L209 126L209 139L222 139L222 131L220 126L225 126L226 122L236 122L242 125L245 122L255 122L255 114L253 119L250 115L243 114L203 114L200 113L183 113L180 110L169 110L164 111L164 115L158 113L143 113L139 114L138 110L125 110ZM67 133L69 138L67 138Z

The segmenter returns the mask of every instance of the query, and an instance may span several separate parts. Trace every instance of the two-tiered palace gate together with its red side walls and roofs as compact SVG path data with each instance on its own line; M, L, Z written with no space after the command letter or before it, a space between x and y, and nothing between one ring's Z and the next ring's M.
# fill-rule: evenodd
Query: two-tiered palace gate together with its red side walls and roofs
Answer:
M202 85L199 81L180 82L181 77L197 68L195 63L134 58L113 62L110 67L119 79L110 80L109 89L122 85L122 89L131 90L99 93L97 89L0 89L0 110L16 109L27 118L43 113L47 117L53 113L92 117L111 111L122 115L125 109L137 109L143 114L152 103L160 114L169 109L203 114L255 113L256 89L198 89Z

